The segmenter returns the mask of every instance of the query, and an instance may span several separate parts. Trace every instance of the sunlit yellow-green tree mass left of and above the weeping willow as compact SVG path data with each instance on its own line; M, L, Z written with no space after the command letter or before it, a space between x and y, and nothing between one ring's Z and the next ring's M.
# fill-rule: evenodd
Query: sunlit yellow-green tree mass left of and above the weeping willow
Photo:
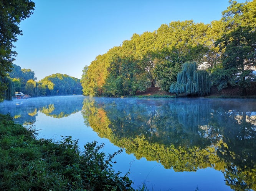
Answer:
M120 97L154 86L168 91L182 63L195 60L203 64L208 59L216 64L213 57L218 48L213 42L220 36L218 26L217 22L173 21L154 32L134 34L84 67L83 94Z

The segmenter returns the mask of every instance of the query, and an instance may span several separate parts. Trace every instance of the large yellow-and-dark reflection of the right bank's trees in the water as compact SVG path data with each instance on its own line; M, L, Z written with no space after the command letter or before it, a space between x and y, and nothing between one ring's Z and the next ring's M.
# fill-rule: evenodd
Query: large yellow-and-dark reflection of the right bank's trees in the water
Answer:
M255 190L253 106L242 110L245 107L231 104L230 109L223 103L207 99L92 99L84 103L82 113L101 137L137 159L155 160L175 171L213 167L224 173L232 189Z

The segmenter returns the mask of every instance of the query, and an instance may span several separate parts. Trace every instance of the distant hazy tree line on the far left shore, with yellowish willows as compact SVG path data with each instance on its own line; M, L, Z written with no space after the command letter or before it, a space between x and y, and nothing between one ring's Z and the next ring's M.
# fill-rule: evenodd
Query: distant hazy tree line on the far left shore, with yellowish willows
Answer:
M10 92L6 93L7 100L12 99L14 92L23 92L32 97L82 94L80 80L67 74L52 74L37 82L34 71L21 69L14 64L12 72L5 79L8 79L8 93Z

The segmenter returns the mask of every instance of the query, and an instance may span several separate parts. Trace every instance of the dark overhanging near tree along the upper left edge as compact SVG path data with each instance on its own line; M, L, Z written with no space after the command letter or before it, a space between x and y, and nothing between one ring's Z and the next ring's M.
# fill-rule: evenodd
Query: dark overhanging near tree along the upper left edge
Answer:
M12 71L13 57L17 52L13 50L13 42L22 35L19 24L22 20L30 17L33 13L35 3L31 0L2 0L0 2L0 77L3 78L7 72ZM0 92L5 91L3 80L0 81ZM0 95L1 96L1 95Z

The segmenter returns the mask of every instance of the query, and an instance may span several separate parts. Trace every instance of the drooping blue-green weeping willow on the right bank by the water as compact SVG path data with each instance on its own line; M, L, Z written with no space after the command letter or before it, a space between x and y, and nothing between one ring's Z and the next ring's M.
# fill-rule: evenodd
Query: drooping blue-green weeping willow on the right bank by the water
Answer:
M209 74L197 71L195 62L185 62L177 75L177 82L170 86L170 93L204 96L210 93Z

